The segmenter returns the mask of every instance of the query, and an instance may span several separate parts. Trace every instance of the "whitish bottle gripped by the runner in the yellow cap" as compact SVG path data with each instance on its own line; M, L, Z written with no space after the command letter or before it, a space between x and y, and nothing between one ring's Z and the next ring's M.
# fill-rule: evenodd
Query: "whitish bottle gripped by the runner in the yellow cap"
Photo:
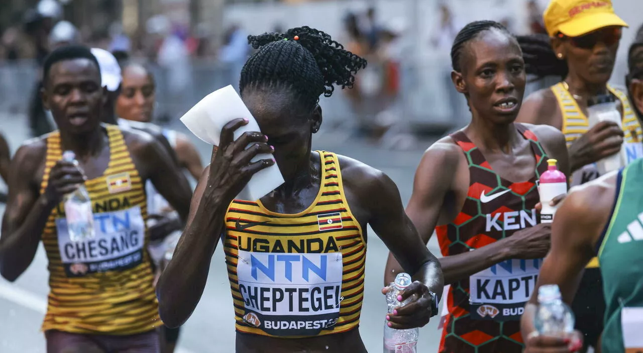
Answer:
M616 99L613 95L597 95L591 97L587 100L587 119L590 122L590 126L594 126L601 121L611 121L615 122L621 127L622 121L620 118L619 109L616 106ZM620 152L615 153L611 156L602 158L596 162L596 168L599 171L600 175L604 175L610 171L615 171L620 167L625 165L624 155L626 151L621 148Z

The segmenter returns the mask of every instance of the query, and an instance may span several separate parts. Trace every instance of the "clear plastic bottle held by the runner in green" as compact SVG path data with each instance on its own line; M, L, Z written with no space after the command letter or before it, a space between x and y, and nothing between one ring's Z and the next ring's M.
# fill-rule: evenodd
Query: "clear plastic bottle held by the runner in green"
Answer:
M568 337L574 332L574 313L561 300L555 284L538 289L538 309L534 316L536 331L543 336Z

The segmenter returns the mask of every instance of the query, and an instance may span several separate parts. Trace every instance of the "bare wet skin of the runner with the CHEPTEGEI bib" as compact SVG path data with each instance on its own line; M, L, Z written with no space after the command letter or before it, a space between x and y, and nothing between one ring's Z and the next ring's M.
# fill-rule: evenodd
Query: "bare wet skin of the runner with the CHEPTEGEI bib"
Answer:
M262 133L246 133L232 142L233 129L245 124L241 119L233 120L223 129L221 146L213 154L212 164L206 167L192 198L188 225L158 283L159 312L170 327L185 322L203 294L210 260L224 232L224 215L231 200L251 174L273 163L263 160L248 165L254 155L273 153L270 146L275 146L273 156L287 180L261 199L267 209L298 213L312 204L320 188L320 158L311 153L311 131L321 124L321 108L317 107L312 117L302 116L292 108L292 93L281 90L247 89L243 99L268 139ZM252 142L255 142L255 148L244 149ZM233 151L235 149L237 152ZM352 158L339 156L339 161L347 202L362 229L370 224L416 280L403 296L415 292L421 298L391 322L395 327L426 324L431 314L426 290L438 294L442 291L439 263L422 244L415 227L404 214L394 182L381 171ZM267 353L366 352L358 329L305 339L237 333L237 352L259 350Z

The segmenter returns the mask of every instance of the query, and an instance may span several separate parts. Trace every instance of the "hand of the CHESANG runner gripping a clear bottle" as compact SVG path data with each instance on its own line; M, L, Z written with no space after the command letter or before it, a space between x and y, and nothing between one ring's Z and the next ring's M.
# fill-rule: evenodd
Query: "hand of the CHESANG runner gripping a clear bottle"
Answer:
M66 162L59 160L51 168L49 184L45 189L45 195L49 202L57 204L63 196L78 189L78 186L85 183L87 177L78 167L78 162Z

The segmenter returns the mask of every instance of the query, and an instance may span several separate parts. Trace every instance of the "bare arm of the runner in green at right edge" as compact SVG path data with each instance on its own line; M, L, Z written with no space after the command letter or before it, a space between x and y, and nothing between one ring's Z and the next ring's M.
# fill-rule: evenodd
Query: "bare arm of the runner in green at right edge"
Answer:
M615 173L575 188L563 201L552 224L552 245L521 319L525 340L534 331L538 288L557 284L571 303L585 265L595 256L594 244L608 222L615 195ZM611 186L610 186L611 185Z

